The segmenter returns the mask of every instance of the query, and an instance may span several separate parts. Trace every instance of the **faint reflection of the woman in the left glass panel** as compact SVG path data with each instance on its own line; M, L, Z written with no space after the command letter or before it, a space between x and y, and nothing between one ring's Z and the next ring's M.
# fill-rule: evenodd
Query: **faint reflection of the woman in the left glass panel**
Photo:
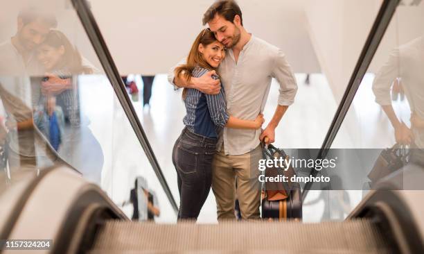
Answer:
M82 65L80 53L66 35L52 30L37 48L37 60L44 67L39 108L45 110L46 101L56 97L63 110L65 128L59 154L65 161L80 170L85 178L100 183L103 169L103 151L91 133L87 120L80 112L78 75L92 74L91 67Z

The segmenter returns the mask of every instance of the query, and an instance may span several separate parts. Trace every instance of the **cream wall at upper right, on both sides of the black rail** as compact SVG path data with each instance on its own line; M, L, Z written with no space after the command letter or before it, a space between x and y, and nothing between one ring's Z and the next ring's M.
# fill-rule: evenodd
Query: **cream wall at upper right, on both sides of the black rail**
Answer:
M304 0L307 27L319 65L336 101L342 99L382 0ZM406 4L409 1L405 1ZM378 71L391 49L423 35L424 4L399 6L369 72Z

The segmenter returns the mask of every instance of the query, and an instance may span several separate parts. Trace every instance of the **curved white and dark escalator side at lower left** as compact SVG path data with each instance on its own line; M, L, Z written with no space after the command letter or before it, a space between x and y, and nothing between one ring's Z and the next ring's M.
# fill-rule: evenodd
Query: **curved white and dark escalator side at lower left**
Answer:
M90 203L109 207L111 218L127 219L96 185L67 167L54 169L33 189L8 239L53 239L53 253L63 253Z

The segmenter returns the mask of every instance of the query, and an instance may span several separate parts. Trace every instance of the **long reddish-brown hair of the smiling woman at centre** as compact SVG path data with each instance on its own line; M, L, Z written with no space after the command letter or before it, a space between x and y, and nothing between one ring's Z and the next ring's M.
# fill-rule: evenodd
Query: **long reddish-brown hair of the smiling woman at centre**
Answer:
M183 77L186 80L191 78L191 73L195 67L200 66L206 69L215 69L209 65L206 60L204 60L202 53L199 51L199 45L208 46L212 42L215 42L215 35L209 30L209 28L205 28L200 31L199 35L197 35L196 40L191 45L190 53L187 56L187 63L185 65L180 65L175 68L175 76L178 78ZM186 99L187 88L184 88L182 92L182 99Z

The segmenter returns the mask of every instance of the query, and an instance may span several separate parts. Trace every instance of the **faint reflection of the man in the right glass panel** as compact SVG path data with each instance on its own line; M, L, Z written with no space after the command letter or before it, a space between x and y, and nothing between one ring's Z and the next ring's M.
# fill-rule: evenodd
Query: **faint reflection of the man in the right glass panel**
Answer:
M398 81L396 81L398 79ZM412 128L399 121L391 105L390 88L401 81L411 108ZM382 105L395 130L396 142L424 149L424 37L418 37L390 53L373 83L376 102Z

